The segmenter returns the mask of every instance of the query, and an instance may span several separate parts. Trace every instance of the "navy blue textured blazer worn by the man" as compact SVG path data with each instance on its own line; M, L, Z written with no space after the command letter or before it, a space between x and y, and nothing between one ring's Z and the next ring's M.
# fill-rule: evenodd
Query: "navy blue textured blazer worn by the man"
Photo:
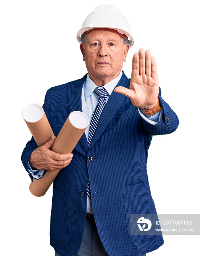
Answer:
M82 111L81 94L86 75L79 80L50 88L44 110L57 136L72 111ZM117 86L129 87L123 75ZM77 255L86 222L87 184L98 233L110 256L139 256L163 244L161 235L137 236L130 233L130 214L156 214L147 176L147 151L152 135L174 132L178 118L161 98L162 118L152 125L141 118L130 99L110 95L100 117L91 146L83 134L73 150L72 162L53 182L50 244L61 256ZM27 162L37 147L32 138L24 148ZM93 161L87 158L93 156ZM83 193L84 191L84 193Z

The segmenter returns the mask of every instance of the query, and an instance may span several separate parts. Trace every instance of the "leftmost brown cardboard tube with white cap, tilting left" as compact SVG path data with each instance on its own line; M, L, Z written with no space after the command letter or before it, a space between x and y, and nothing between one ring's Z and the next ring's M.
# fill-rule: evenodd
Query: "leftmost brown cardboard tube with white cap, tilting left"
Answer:
M52 128L43 108L36 103L27 105L22 116L38 147L46 143L53 136Z

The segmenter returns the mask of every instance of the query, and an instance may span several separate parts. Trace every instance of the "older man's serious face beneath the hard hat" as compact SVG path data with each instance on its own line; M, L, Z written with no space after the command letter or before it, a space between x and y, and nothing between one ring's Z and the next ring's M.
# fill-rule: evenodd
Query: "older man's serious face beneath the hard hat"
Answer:
M86 43L81 44L80 49L93 82L105 78L109 82L120 74L129 45L123 45L116 33L100 30L87 33Z

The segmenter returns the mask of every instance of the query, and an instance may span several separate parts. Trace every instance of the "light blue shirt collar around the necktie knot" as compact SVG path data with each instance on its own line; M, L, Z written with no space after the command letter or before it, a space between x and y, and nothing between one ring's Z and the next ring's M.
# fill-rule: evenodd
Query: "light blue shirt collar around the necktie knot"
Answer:
M110 95L112 91L114 90L114 87L117 85L119 80L121 79L122 71L120 72L120 75L111 80L110 82L106 83L104 86L102 86L104 89L106 89L107 93ZM98 86L90 79L89 75L87 74L87 78L84 83L84 96L85 101L88 97L93 93L94 89Z

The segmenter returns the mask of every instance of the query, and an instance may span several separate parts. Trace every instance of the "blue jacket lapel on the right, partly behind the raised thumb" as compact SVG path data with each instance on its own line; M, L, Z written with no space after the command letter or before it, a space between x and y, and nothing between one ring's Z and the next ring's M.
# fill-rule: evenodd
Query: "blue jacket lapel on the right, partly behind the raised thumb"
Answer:
M124 86L124 87L129 88L129 84L130 84L130 79L128 79L127 76L123 72L123 75L122 75L120 81L118 82L118 84L116 85L116 87ZM108 102L106 103L105 108L103 109L101 117L99 119L97 128L95 130L93 139L90 144L90 148L95 144L95 142L97 142L97 140L102 135L103 131L105 130L107 125L110 123L110 121L112 120L115 113L117 112L117 109L125 101L125 99L127 99L126 96L124 96L120 93L115 93L113 90Z

